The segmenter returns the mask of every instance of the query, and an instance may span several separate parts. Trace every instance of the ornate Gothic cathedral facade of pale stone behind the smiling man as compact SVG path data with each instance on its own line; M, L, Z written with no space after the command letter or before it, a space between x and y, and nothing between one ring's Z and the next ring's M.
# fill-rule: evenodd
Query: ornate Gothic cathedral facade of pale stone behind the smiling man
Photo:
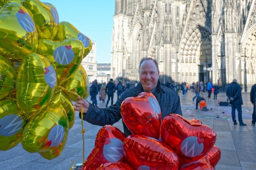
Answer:
M111 75L139 81L141 58L158 61L163 82L236 78L256 84L255 0L115 0Z

